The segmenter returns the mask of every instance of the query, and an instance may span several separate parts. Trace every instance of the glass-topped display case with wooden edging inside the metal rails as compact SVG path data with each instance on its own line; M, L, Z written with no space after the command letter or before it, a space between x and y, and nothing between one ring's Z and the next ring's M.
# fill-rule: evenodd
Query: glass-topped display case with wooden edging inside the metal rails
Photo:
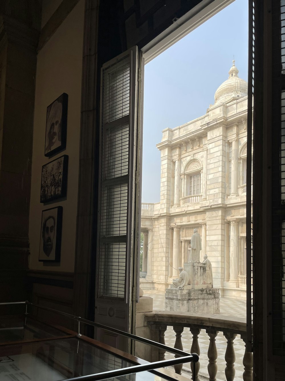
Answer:
M0 317L0 381L59 381L144 363L138 357L83 335L77 337L76 332L29 315ZM108 379L164 381L176 376L161 369Z

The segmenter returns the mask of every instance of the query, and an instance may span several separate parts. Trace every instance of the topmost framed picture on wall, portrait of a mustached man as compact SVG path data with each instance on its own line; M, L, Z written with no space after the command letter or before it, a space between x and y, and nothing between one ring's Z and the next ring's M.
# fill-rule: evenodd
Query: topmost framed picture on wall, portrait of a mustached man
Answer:
M44 156L52 156L66 147L68 95L63 93L46 110Z

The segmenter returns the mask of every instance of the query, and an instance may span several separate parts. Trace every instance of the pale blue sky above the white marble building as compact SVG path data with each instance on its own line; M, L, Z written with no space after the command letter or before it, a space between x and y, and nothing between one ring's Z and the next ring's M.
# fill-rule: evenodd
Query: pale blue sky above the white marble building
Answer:
M193 30L144 70L142 202L160 201L160 151L166 127L206 114L236 60L247 81L248 1L236 0Z

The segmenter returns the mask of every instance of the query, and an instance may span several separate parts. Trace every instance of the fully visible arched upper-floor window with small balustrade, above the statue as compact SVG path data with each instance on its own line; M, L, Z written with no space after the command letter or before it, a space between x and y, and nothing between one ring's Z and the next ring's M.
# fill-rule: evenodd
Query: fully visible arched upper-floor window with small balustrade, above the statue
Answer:
M185 198L194 196L195 200L185 199L185 203L199 202L202 194L203 166L197 159L187 163L184 170L184 195ZM182 202L183 204L184 202Z

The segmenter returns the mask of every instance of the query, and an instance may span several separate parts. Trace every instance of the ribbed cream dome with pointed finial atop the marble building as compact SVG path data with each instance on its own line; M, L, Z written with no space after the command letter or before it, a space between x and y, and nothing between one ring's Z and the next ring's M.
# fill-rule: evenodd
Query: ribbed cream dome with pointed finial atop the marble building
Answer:
M238 76L239 70L233 60L229 78L215 92L215 104L227 102L232 98L247 96L247 82Z

